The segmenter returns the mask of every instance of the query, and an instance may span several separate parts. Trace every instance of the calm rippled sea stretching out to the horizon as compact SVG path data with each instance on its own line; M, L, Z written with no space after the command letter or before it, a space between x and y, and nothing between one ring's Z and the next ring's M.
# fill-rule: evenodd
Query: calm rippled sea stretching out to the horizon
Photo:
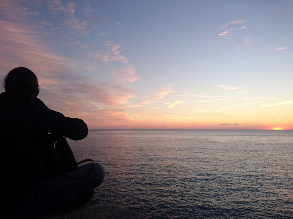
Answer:
M95 198L146 218L293 218L293 131L90 130Z

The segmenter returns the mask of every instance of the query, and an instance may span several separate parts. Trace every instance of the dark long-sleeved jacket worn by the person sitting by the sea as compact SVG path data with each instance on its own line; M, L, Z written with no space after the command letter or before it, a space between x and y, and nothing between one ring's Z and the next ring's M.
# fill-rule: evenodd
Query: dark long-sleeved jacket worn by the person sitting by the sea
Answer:
M24 203L38 190L42 176L36 151L47 133L81 140L88 128L83 120L65 117L38 98L19 106L13 94L0 94L1 198L7 207Z

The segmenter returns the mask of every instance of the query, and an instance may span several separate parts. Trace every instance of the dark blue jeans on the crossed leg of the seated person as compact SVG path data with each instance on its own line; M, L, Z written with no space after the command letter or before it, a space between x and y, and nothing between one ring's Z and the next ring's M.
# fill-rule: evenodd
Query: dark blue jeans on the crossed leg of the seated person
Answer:
M78 177L90 172L93 164L79 166L76 170L66 173L71 177ZM86 178L72 180L59 175L50 180L42 180L41 186L36 194L26 202L18 211L18 215L39 216L44 213L66 205L75 197L81 196L89 190L98 187L105 176L103 166L96 163L93 173Z

